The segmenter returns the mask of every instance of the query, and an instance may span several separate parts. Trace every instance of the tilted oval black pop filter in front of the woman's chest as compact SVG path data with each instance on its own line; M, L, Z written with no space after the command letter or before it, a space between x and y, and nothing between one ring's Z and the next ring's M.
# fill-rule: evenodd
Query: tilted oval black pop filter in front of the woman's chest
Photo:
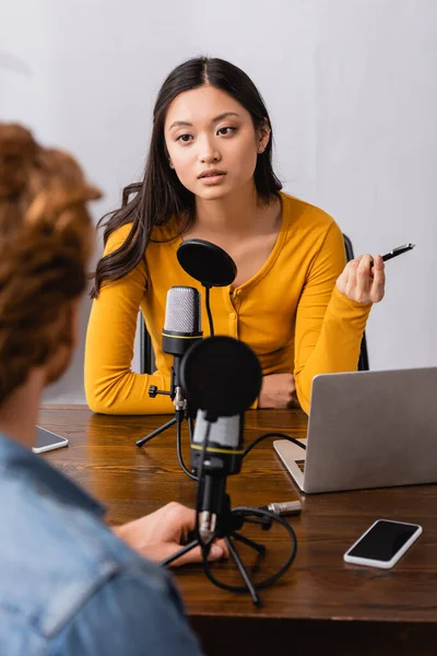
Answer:
M184 271L204 286L226 286L237 274L237 267L226 250L204 239L187 239L177 249Z

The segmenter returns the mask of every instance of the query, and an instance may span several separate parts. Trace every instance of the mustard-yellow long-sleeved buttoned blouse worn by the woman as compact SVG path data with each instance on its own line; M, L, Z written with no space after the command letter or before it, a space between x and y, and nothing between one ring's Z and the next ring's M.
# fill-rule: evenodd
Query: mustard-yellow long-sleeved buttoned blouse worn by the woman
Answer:
M211 290L216 335L249 344L263 375L293 373L298 400L308 412L316 374L355 371L371 305L350 301L335 280L345 265L342 233L322 210L281 194L282 223L263 267L229 294ZM113 233L105 255L121 246L131 224ZM155 229L168 239L169 229ZM150 385L169 390L173 358L163 353L167 291L189 285L202 294L202 329L209 336L203 288L179 266L181 237L150 242L145 257L121 280L105 283L94 301L86 336L85 393L90 408L107 414L174 412L169 397L149 397ZM131 371L137 317L141 307L152 338L157 371Z

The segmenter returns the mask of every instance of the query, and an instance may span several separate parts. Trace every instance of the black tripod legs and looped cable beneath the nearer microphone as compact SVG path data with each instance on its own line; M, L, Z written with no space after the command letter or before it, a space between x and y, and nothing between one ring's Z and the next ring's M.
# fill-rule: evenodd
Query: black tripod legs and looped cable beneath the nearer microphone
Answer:
M201 485L201 483L199 483L199 487L200 485ZM251 540L251 539L247 538L246 536L243 536L241 534L238 532L238 530L244 526L245 523L259 524L262 526L263 530L269 530L271 528L273 522L279 522L285 528L285 530L288 532L291 540L292 540L291 554L290 554L287 561L285 562L285 564L275 574L261 581L260 583L255 584L251 581L249 572L247 571L247 567L245 566L245 564L240 558L240 554L238 553L237 548L232 542L231 538L234 538L234 540L241 542L243 544L246 544L247 547L250 547L258 553L258 555L260 558L262 558L267 552L267 548L264 547L264 544L260 544L259 542L256 542L255 540ZM238 572L240 573L241 578L245 582L244 586L226 585L226 584L217 581L215 578L215 576L212 574L210 564L208 561L208 554L210 552L212 541L215 538L224 538L224 540L227 544L227 548L229 550L229 554L234 559L234 561L238 567ZM295 555L296 555L297 543L296 543L296 536L294 534L293 528L282 517L279 517L277 515L273 515L273 513L270 513L269 511L263 511L260 508L251 508L251 507L243 506L243 507L237 507L237 508L231 509L231 497L228 494L224 494L223 501L222 501L222 509L217 517L216 530L215 530L214 535L212 536L212 538L210 538L209 541L203 540L201 530L199 529L199 524L197 522L196 530L192 531L191 534L189 534L189 536L187 538L187 544L185 547L182 547L179 551L177 551L176 553L174 553L173 555L167 558L166 560L162 561L161 564L169 565L172 562L174 562L175 560L177 560L178 558L180 558L181 555L187 553L188 551L191 551L191 549L194 549L198 546L200 546L201 550L202 550L203 571L204 571L206 577L209 578L209 581L211 581L211 583L213 583L217 587L225 589L225 590L231 590L231 591L236 591L236 593L247 593L248 591L252 598L253 605L257 607L260 607L260 606L262 606L262 601L261 601L261 598L258 595L257 590L259 590L261 588L265 588L269 585L272 585L291 567L291 565L295 559Z

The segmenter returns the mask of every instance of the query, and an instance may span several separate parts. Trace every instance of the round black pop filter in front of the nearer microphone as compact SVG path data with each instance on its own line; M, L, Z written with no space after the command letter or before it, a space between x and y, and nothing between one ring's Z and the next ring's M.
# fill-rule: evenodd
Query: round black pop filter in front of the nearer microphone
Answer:
M244 342L232 337L209 337L193 344L180 362L187 398L206 419L234 417L257 399L262 384L258 358Z

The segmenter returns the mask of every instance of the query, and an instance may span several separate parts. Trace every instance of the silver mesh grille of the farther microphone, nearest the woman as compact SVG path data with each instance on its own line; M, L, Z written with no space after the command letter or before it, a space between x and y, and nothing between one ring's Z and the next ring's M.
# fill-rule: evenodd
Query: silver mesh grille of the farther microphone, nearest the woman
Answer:
M164 330L200 332L200 293L196 288L173 286L167 292Z

